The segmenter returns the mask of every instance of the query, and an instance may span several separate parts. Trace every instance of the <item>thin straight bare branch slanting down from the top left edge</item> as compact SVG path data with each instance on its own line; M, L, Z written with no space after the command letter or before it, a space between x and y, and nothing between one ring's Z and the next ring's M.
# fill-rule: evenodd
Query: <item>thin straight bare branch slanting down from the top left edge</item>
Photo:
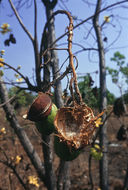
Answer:
M24 32L28 35L28 37L30 38L30 40L31 40L32 43L33 43L34 39L33 39L32 35L29 33L29 31L27 30L27 28L24 26L24 24L23 24L23 22L22 22L22 20L21 20L21 18L20 18L20 16L19 16L17 10L15 9L15 7L14 7L12 1L11 1L11 0L8 0L8 1L9 1L10 5L11 5L11 8L12 8L13 12L15 13L15 16L16 16L18 22L20 23L22 29L23 29Z

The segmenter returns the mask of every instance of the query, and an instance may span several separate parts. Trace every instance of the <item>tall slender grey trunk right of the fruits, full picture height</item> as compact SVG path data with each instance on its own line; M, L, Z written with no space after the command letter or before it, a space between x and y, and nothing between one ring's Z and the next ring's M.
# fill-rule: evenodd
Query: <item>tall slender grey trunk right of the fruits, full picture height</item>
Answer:
M102 0L97 0L93 25L97 37L98 52L99 52L99 69L100 69L100 111L103 111L107 106L106 98L106 69L105 69L105 53L101 28L99 26L99 11L101 9ZM105 114L102 119L105 119ZM107 140L107 123L100 128L100 145L103 148L103 157L100 160L100 187L102 190L108 190L108 140Z

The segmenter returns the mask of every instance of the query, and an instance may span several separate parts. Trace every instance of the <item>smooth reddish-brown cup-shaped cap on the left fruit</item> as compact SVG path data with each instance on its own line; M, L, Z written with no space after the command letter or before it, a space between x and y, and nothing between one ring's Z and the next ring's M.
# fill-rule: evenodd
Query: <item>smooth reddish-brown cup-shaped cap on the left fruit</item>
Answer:
M29 108L27 119L35 122L42 121L50 114L51 109L51 98L47 94L40 92Z

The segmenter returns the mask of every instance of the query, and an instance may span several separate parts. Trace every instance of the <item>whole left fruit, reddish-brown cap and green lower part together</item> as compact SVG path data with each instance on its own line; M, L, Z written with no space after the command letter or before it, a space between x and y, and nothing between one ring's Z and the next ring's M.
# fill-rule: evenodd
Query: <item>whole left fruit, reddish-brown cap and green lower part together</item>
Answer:
M54 118L57 107L52 103L51 98L45 93L39 93L32 103L27 118L34 121L40 133L51 134L54 130Z

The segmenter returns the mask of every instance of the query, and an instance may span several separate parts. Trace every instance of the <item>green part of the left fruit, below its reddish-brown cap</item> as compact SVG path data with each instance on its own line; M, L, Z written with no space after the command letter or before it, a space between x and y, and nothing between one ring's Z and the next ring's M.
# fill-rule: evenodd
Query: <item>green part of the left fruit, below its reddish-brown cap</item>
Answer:
M57 107L55 104L52 104L51 112L48 116L44 117L42 121L36 122L36 127L40 133L45 135L50 135L55 131L54 127L54 118L57 113Z

